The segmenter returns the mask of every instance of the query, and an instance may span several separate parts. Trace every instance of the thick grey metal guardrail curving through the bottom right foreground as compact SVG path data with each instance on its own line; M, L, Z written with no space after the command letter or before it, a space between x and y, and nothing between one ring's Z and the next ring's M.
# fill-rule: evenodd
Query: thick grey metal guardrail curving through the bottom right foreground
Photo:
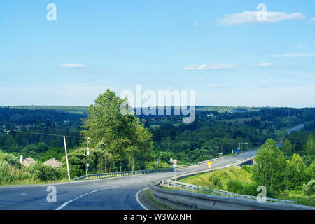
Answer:
M280 200L276 200L278 203L274 203L274 200L269 202L258 202L253 200L253 197L248 195L241 195L235 193L228 193L224 191L217 191L220 195L205 195L202 193L190 192L187 188L193 188L193 186L183 186L175 183L176 187L186 188L186 190L170 190L160 188L162 182L149 183L148 188L151 190L154 200L167 204L172 209L207 209L207 210L255 210L255 209L267 209L267 210L315 210L315 207L309 207L297 204L283 203ZM164 182L162 184L172 183ZM225 195L224 195L225 194ZM229 195L230 194L230 195Z

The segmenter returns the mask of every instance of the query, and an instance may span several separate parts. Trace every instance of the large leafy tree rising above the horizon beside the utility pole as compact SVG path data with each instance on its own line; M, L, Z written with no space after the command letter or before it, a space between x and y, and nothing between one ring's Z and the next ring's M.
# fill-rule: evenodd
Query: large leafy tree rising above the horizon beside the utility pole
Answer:
M97 151L102 171L124 168L144 168L153 148L151 133L139 118L120 112L126 99L120 99L109 89L95 99L83 120L84 137L90 137L90 147Z

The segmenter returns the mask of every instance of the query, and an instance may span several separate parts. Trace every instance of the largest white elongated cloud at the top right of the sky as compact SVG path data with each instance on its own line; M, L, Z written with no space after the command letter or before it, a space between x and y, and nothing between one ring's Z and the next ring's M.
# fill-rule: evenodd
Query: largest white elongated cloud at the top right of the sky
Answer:
M304 19L303 13L265 12L265 20L261 20L262 11L244 11L242 13L223 15L216 20L221 25L242 25L251 23L279 22L281 20Z

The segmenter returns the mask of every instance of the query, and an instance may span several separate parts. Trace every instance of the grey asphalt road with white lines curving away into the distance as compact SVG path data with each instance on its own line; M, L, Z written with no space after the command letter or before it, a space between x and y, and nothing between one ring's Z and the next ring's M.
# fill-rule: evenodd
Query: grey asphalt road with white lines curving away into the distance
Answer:
M229 165L255 155L256 151L245 152L236 157L221 158L212 162L212 168ZM176 174L186 174L207 169L207 163L176 170ZM71 181L45 185L1 186L1 210L55 210L55 209L94 209L94 210L142 210L135 195L148 183L169 179L174 172L138 174L109 179ZM55 186L57 202L48 202L48 186Z

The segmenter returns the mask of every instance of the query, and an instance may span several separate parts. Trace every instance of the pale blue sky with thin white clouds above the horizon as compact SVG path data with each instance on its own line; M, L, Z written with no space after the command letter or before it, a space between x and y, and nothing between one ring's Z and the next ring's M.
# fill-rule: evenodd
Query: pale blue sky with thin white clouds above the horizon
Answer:
M140 84L196 90L197 105L311 107L314 62L315 1L0 0L0 106L88 106Z

